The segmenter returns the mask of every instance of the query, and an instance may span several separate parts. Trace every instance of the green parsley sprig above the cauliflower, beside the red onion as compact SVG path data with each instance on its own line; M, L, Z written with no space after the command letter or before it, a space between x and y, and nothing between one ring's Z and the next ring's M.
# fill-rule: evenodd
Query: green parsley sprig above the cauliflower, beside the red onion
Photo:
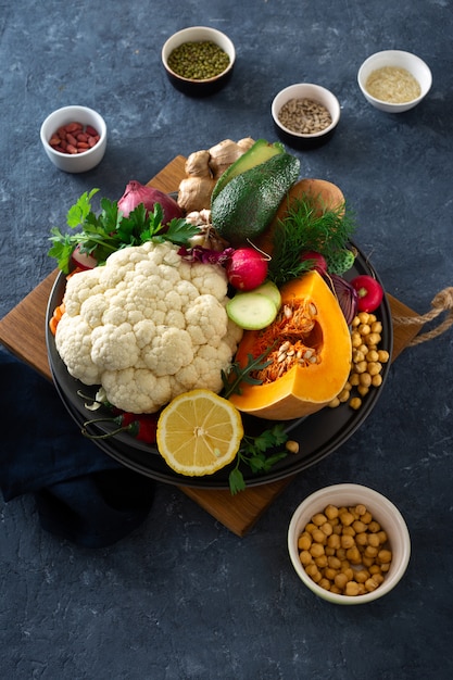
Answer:
M141 245L146 241L171 241L177 245L187 245L189 239L199 232L199 227L190 225L186 219L172 219L163 225L163 210L160 203L154 204L154 211L147 212L141 203L125 217L118 210L117 201L101 199L101 211L96 214L91 206L92 197L99 189L85 191L77 202L70 207L66 224L71 229L81 227L76 232L63 232L59 227L52 227L50 241L52 247L49 255L56 260L59 268L70 272L71 256L79 245L80 252L92 255L98 264L116 250L128 245Z

